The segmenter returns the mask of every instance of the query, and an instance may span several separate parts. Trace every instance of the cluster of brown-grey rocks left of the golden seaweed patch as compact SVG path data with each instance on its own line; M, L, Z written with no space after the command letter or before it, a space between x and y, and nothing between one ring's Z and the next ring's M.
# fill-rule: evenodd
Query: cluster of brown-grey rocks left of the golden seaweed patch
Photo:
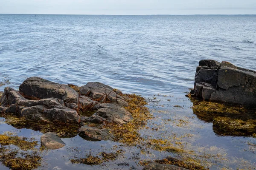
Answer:
M132 114L125 110L130 98L122 91L99 82L89 82L74 90L40 77L30 77L19 91L6 87L0 98L0 113L12 114L33 122L80 124L79 135L89 140L113 140L108 130L90 127L130 122ZM87 111L94 112L88 116Z

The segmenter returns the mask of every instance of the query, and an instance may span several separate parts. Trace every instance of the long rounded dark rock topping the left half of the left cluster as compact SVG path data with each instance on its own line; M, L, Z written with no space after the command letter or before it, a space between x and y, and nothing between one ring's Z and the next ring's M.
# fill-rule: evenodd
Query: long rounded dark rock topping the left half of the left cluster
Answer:
M23 96L34 99L57 98L78 104L79 94L67 85L61 85L40 77L26 79L19 88Z

